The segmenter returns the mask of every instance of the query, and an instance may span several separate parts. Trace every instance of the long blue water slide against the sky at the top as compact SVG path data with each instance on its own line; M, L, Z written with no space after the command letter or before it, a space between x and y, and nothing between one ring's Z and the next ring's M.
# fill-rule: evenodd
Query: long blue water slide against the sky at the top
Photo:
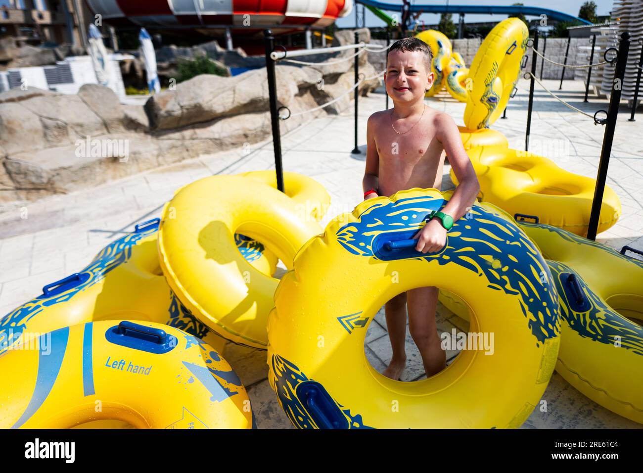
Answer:
M355 0L356 3L361 3L373 12L379 19L383 20L392 26L392 17L387 15L387 12L400 12L401 4L393 5L391 3L380 2L376 0ZM476 14L476 15L516 15L523 14L529 16L547 15L550 20L556 21L574 21L581 24L591 24L589 21L568 15L549 8L541 8L539 6L524 6L524 5L508 5L508 6L493 6L493 5L411 5L410 12L422 13L455 13L455 14Z

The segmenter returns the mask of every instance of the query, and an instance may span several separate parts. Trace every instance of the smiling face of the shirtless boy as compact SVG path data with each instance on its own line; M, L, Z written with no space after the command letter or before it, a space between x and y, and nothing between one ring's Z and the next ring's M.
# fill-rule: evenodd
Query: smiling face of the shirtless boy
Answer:
M422 100L433 85L433 72L422 51L391 51L384 74L386 93L397 102Z

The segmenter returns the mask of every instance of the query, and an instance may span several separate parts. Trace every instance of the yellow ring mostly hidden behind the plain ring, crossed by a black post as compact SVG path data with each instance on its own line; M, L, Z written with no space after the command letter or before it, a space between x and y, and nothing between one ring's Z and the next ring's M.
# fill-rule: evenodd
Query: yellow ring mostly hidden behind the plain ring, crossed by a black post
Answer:
M277 188L275 171L249 171L239 174L245 178L256 179ZM311 215L320 221L331 206L331 196L318 181L297 172L284 171L285 194L300 207L302 218Z

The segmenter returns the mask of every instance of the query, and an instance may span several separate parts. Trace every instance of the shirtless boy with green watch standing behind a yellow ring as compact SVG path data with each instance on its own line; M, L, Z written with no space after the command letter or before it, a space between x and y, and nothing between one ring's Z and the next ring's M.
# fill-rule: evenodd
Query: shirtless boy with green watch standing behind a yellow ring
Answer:
M434 80L432 59L430 48L415 38L396 41L388 51L384 81L394 107L368 118L364 198L392 196L413 187L440 189L444 156L448 154L459 184L441 211L457 221L475 202L480 185L453 118L424 104L424 93ZM449 223L448 218L443 222L433 217L415 234L415 249L425 254L442 249ZM393 357L385 376L398 380L406 364L406 304L409 330L422 355L426 377L446 367L435 324L437 296L437 288L415 288L386 302Z

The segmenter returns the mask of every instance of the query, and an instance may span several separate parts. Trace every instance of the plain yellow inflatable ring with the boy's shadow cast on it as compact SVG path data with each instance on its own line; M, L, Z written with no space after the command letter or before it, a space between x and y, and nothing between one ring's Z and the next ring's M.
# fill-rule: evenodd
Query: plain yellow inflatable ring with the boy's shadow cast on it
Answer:
M174 216L175 218L172 218ZM296 203L248 178L210 176L181 189L163 209L161 267L181 302L222 337L266 349L266 320L278 280L237 251L233 234L262 241L290 268L299 248L321 228L300 218Z

